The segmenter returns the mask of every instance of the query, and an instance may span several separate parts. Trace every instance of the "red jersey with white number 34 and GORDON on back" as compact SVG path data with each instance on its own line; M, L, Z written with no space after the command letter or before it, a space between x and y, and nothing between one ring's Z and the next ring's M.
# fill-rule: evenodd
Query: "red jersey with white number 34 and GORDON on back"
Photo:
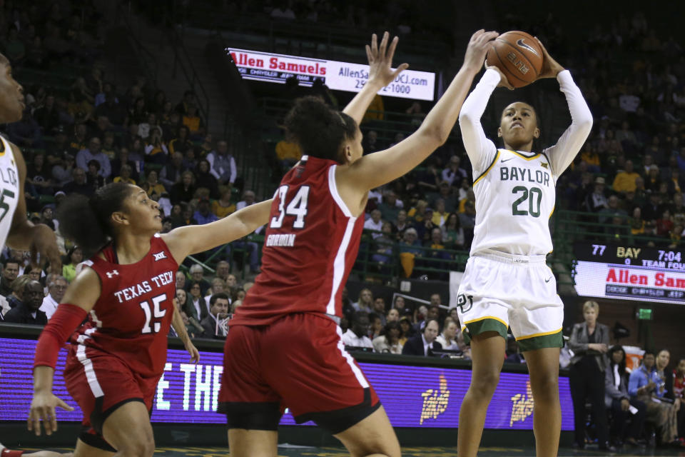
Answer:
M342 315L364 218L335 185L335 161L303 156L276 191L255 279L231 325L268 325L289 313Z

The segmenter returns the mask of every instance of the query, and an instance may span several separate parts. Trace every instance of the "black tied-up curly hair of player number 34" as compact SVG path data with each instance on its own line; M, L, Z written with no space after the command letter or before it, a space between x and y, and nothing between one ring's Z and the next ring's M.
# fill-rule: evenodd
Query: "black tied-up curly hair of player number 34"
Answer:
M300 145L303 154L342 163L340 144L357 134L357 122L345 113L330 109L313 96L295 100L285 116L288 138Z

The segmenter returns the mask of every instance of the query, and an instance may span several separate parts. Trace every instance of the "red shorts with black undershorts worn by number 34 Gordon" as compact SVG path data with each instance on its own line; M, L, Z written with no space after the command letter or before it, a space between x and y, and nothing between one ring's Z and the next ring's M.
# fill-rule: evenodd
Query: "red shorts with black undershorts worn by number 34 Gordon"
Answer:
M231 326L224 346L219 411L229 428L276 430L285 408L336 434L380 407L340 327L318 314L270 326Z

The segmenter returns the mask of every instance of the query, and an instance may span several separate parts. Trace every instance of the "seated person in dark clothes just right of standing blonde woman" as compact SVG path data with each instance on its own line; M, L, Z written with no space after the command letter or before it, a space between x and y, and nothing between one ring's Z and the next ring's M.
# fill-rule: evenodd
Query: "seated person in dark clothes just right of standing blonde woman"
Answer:
M646 405L628 393L628 373L626 373L626 352L621 346L609 349L609 363L604 371L604 403L612 411L611 433L614 444L619 447L621 441L631 446L638 446L643 427ZM631 414L630 406L637 409ZM630 424L629 424L630 423Z

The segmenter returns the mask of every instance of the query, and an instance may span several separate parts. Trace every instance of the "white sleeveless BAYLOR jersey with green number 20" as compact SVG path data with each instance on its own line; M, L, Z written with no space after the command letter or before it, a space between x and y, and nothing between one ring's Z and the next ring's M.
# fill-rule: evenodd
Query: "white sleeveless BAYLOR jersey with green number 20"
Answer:
M522 256L552 251L549 217L557 177L544 153L497 149L473 183L476 225L471 255L494 249Z

